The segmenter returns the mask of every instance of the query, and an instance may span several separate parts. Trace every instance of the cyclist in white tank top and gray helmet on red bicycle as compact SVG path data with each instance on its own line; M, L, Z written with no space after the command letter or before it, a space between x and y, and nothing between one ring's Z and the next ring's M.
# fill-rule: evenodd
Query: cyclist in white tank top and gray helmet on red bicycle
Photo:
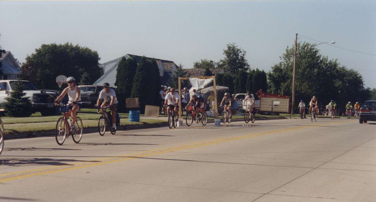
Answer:
M71 131L76 131L76 117L78 110L82 107L81 102L81 88L76 85L76 79L73 77L67 78L68 87L66 87L61 95L58 96L58 98L55 99L55 105L59 104L59 100L61 100L67 93L68 93L68 105L69 111L67 113L68 116L72 117L72 123L71 123ZM70 121L68 121L70 123Z

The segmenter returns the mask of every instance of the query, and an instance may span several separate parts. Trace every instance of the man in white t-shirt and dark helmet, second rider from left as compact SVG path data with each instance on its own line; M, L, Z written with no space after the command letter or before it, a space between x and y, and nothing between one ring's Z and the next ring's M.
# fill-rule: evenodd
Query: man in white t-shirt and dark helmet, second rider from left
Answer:
M114 89L110 89L109 83L103 83L103 90L100 91L99 97L97 100L96 107L99 108L99 104L104 100L100 110L103 112L102 107L107 107L111 110L111 118L112 118L112 130L116 128L116 110L117 110L117 98Z

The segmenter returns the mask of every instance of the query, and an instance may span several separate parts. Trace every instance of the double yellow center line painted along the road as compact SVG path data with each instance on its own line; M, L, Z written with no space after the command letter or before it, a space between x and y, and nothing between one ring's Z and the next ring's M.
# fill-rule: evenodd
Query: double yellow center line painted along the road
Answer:
M328 123L325 123L325 124L320 124L319 126L321 126L321 125L332 125L332 124L338 124L338 123L340 123L340 122L328 122ZM0 179L0 182L12 181L12 180L16 180L16 179L23 179L23 178L28 178L28 177L32 177L32 176L38 176L38 175L46 175L46 174L63 172L63 171L68 171L68 170L76 170L76 169L92 167L92 166L99 166L99 165L115 163L115 162L119 162L119 161L130 160L130 159L133 159L133 158L148 157L148 156L153 156L153 155L158 155L158 154L165 154L165 153L173 152L173 151L180 151L180 150L184 150L184 149L191 149L191 148L197 148L197 147L202 147L202 146L215 145L215 144L218 144L218 143L230 142L230 141L233 141L233 140L247 139L247 138L251 138L251 137L260 137L260 136L265 136L265 135L269 135L269 134L276 134L276 133L284 133L284 132L289 132L289 131L301 130L301 129L304 129L304 128L310 128L310 127L315 127L315 126L318 126L318 125L306 125L306 126L302 126L302 127L287 128L287 129L283 129L283 130L275 130L275 131L262 132L262 133L256 133L256 134L248 134L248 135L232 137L232 138L224 137L224 138L219 138L219 139L211 139L211 140L206 140L206 141L203 141L203 142L188 143L188 144L172 146L172 147L168 147L168 148L152 149L152 150L149 150L149 151L136 152L136 153L133 153L133 154L119 155L117 157L107 157L107 158L92 160L92 161L100 161L100 162L89 163L89 164L85 164L85 165L81 165L81 166L79 166L79 165L84 164L84 163L88 163L88 162L92 162L92 161L84 161L84 162L76 163L76 164L73 164L73 166L72 165L52 166L52 167L45 167L45 168L40 168L40 169L25 170L25 171L20 171L20 172L5 173L5 174L0 175L0 177L1 176L9 176L9 175L17 175L17 174L22 174L22 173L25 173L25 174ZM67 167L67 166L72 166L72 167ZM38 171L41 171L41 170L55 169L55 168L61 168L61 169L50 170L50 171L45 171L45 172L38 172ZM32 173L32 172L35 172L35 173Z

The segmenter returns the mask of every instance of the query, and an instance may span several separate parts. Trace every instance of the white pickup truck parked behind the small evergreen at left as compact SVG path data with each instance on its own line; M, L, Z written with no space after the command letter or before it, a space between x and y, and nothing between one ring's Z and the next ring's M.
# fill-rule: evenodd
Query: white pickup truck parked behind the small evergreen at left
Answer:
M0 108L1 103L9 96L17 80L0 80ZM55 90L37 90L30 81L22 81L24 88L23 92L29 97L33 107L33 112L39 111L42 116L54 115L56 109L53 101L56 99L57 94Z

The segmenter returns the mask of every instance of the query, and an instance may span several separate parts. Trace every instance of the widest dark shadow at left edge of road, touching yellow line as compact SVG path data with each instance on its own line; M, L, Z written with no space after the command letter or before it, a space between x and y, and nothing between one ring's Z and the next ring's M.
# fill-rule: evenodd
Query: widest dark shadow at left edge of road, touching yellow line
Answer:
M69 163L68 163L69 162ZM99 162L80 161L74 159L53 159L53 158L5 158L0 159L0 165L5 166L72 166L72 162Z

